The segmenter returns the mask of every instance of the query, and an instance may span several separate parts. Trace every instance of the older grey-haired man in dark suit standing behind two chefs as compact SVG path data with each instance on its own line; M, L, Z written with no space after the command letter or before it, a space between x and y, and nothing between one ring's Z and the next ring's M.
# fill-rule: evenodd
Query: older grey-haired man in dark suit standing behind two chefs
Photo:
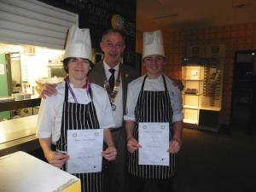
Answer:
M96 63L90 73L90 78L93 83L105 87L108 91L115 121L115 126L111 128L111 133L118 152L117 159L108 162L107 170L105 170L107 173L105 179L108 192L124 192L125 126L123 114L125 111L127 84L136 79L138 73L135 68L120 62L125 50L125 37L122 32L116 29L109 29L103 32L100 46L104 53L104 58Z

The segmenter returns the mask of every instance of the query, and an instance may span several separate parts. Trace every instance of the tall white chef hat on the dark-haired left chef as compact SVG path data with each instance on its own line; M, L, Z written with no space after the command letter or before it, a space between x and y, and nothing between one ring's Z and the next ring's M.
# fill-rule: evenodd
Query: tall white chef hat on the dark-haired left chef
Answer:
M79 29L78 26L69 28L64 59L67 57L92 60L89 29Z

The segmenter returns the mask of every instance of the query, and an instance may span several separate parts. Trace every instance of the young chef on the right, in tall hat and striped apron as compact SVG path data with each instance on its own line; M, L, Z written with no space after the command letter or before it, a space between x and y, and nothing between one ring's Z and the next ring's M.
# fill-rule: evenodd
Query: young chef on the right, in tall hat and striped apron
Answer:
M182 141L183 113L180 90L171 79L163 74L165 64L166 58L161 32L159 30L144 32L143 65L147 69L147 74L128 84L125 114L129 152L127 168L129 191L131 192L142 192L144 184L148 180L154 180L160 192L172 191L175 154L180 150ZM138 140L139 134L142 134L138 131L138 127L142 125L140 123L146 123L143 128L149 127L152 123L168 123L169 136L166 137L167 146L164 147L163 153L166 153L167 157L169 156L166 164L168 166L161 166L161 162L157 162L156 165L139 163L140 158L146 158L146 156L139 157L138 152L140 148L146 147L142 146ZM148 145L150 144L152 143ZM155 155L154 147L151 148L150 153Z

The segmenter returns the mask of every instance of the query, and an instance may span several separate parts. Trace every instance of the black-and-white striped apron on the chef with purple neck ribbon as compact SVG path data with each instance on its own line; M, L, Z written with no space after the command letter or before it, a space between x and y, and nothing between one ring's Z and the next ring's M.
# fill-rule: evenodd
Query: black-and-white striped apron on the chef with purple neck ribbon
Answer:
M87 129L100 129L96 116L96 108L92 101L88 104L68 102L68 87L66 82L61 119L61 137L56 143L56 149L67 151L67 130ZM62 169L64 171L67 170L67 163L65 163ZM73 175L81 179L82 192L103 191L102 172L74 173Z

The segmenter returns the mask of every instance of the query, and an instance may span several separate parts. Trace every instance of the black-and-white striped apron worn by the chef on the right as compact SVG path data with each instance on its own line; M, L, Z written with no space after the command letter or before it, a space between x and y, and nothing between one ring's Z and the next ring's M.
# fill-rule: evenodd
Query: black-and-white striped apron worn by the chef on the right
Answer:
M136 124L133 129L133 137L138 141L138 123L168 122L170 125L169 140L172 138L172 105L170 96L166 87L166 79L162 78L165 84L164 91L143 90L145 80L143 79L142 89L137 99L135 108ZM138 141L139 143L139 141ZM167 148L166 148L167 150ZM128 172L135 177L150 179L167 179L174 174L175 154L170 154L170 166L148 166L138 165L138 150L134 153L128 153Z

